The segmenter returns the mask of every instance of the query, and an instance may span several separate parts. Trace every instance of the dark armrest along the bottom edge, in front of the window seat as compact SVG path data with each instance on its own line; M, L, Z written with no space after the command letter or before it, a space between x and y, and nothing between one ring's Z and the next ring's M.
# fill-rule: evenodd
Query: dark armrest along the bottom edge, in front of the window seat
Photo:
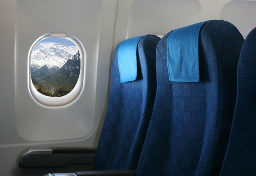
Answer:
M74 173L49 173L44 176L136 176L136 170L85 171Z

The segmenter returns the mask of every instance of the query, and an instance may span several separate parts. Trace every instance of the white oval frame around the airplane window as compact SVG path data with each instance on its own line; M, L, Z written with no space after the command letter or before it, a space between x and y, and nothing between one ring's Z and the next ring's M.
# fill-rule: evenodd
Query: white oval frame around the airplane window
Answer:
M33 52L35 46L40 41L42 41L46 38L50 38L50 37L60 37L60 38L65 38L65 39L72 41L74 44L76 44L76 46L79 50L79 53L80 53L80 59L81 59L80 74L79 74L78 80L76 82L76 85L72 89L72 91L70 91L67 95L64 95L62 97L49 97L49 96L41 94L40 92L38 92L36 90L36 88L34 87L34 85L32 83L32 79L31 79L30 61L31 61L32 52ZM82 87L84 84L84 74L85 74L84 68L85 68L85 63L86 63L85 60L86 60L86 57L85 57L85 50L84 50L83 45L75 36L73 36L71 34L68 34L65 32L52 32L52 33L45 34L45 35L39 37L38 39L36 39L36 41L30 47L30 50L28 53L28 87L29 87L32 97L40 104L43 104L45 106L51 106L51 107L67 105L68 103L71 103L72 101L74 101L81 93Z

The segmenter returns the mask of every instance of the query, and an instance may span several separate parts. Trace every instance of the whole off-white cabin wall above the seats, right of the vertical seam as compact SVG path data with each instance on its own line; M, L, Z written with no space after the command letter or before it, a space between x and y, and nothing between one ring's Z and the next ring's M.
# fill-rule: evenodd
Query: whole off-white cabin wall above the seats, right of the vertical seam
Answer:
M114 46L206 20L229 21L246 37L256 27L255 5L255 0L119 0Z

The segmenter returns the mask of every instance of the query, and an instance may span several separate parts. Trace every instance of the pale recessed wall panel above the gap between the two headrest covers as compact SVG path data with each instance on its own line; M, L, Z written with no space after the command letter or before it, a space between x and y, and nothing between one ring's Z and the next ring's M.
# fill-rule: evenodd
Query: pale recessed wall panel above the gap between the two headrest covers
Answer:
M197 0L135 0L129 15L127 38L161 33L193 24L201 14Z

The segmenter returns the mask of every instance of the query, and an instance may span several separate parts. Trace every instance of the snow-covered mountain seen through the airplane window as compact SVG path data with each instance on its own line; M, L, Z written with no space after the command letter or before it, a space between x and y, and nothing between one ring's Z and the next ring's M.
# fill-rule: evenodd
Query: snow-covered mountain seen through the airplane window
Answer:
M39 46L36 46L37 49L34 49L32 52L30 62L31 75L34 76L38 76L38 73L42 70L46 70L47 72L47 69L49 74L53 74L58 71L70 57L76 54L78 50L77 46L70 46L66 43L44 42L38 45Z

